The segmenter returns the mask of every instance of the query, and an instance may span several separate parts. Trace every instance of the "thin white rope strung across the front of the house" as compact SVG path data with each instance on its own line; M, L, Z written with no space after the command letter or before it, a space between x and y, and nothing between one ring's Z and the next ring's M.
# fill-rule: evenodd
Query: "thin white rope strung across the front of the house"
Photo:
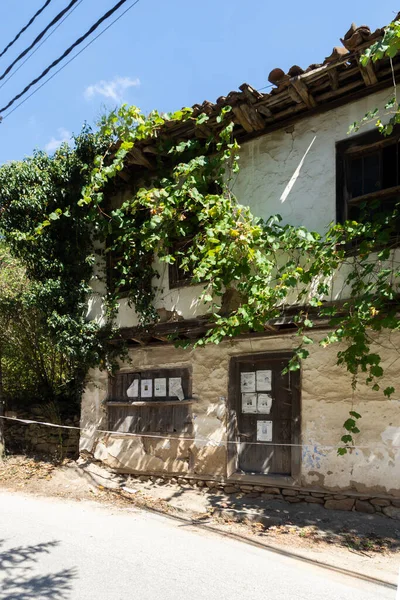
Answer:
M17 417L5 417L0 415L0 419L5 419L7 421L17 421L18 423L24 423L25 425L44 425L45 427L55 427L57 429L77 429L79 431L84 431L93 435L94 433L104 433L106 435L117 435L123 437L133 437L133 438L152 438L157 440L172 440L172 441L183 441L183 442L197 442L202 443L204 446L227 446L229 444L233 444L236 446L240 446L241 444L246 444L249 446L286 446L289 448L313 448L313 449L322 449L322 450L337 450L338 448L347 448L348 450L392 450L393 448L400 449L400 446L346 446L346 444L342 444L341 446L333 446L333 445L323 445L323 444L282 444L275 442L242 442L242 441L232 441L232 440L211 440L210 438L188 438L188 437L172 437L165 435L156 435L156 434L148 434L148 433L129 433L122 431L108 431L107 429L92 429L88 427L78 427L76 425L60 425L58 423L46 423L45 421L32 421L31 419L18 419Z

